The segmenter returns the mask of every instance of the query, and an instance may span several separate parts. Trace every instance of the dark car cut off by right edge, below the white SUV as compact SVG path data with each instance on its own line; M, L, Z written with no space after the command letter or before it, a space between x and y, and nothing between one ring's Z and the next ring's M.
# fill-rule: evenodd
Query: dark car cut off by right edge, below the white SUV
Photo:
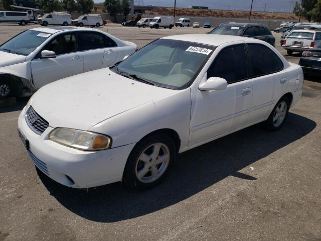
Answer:
M321 76L321 42L303 51L299 65L304 74Z

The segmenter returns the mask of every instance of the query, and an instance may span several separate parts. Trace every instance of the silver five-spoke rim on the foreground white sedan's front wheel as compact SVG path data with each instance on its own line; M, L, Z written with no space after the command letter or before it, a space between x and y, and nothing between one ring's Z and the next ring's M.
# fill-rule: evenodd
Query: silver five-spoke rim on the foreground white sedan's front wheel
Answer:
M135 173L142 183L151 183L161 177L170 162L170 150L163 143L155 143L144 149L136 162Z

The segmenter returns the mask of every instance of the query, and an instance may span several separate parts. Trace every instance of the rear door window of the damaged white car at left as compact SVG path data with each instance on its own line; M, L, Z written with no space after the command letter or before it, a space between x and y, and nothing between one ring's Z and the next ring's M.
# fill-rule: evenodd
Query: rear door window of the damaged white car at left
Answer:
M105 36L99 33L81 32L80 34L81 50L100 49L105 47Z

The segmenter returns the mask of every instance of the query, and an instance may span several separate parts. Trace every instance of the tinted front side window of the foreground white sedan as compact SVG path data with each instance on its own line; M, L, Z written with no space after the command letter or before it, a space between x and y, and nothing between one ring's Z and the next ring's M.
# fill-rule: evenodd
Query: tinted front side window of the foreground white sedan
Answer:
M244 44L229 46L220 51L207 70L207 78L220 77L228 84L247 78Z

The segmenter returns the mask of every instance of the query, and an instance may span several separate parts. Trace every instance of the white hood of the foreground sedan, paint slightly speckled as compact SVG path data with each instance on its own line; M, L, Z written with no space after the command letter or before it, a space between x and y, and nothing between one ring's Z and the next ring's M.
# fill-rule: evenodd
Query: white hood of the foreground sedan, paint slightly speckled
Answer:
M45 85L33 95L31 105L53 128L89 130L105 119L175 92L104 68Z

